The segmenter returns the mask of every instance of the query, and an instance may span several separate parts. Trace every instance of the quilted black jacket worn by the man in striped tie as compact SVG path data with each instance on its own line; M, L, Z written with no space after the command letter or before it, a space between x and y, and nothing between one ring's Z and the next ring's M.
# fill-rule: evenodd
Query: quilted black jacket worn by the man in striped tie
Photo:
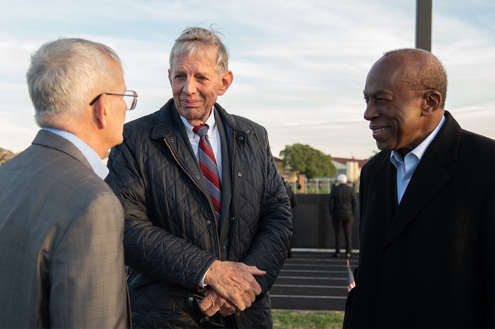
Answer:
M111 150L106 180L125 209L134 327L197 328L187 295L203 289L200 281L215 259L267 272L256 278L262 288L256 301L232 318L240 328L272 327L268 290L292 238L289 199L266 130L218 104L215 109L227 141L219 221L173 99L126 123L124 142Z

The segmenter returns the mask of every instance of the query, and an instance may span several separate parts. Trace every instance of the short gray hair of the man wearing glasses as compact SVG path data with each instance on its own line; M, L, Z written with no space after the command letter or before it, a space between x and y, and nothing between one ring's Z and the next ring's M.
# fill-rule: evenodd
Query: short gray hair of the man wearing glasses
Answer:
M60 115L82 114L95 91L114 80L110 58L122 70L115 51L98 42L59 39L43 44L26 73L36 123L53 126Z

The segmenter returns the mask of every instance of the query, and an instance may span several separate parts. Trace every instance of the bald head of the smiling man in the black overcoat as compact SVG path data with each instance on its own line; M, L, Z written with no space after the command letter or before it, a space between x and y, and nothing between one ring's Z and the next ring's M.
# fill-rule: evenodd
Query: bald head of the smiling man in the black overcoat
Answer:
M377 147L406 155L418 146L442 119L446 88L444 67L428 51L399 49L378 59L363 90Z

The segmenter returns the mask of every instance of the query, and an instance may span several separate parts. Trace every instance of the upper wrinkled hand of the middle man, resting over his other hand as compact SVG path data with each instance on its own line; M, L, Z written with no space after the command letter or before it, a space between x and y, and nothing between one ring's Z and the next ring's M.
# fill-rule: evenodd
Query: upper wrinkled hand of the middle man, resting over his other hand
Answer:
M261 277L265 274L265 271L256 266L215 260L206 273L204 283L232 302L240 311L244 311L261 293L261 287L254 276Z

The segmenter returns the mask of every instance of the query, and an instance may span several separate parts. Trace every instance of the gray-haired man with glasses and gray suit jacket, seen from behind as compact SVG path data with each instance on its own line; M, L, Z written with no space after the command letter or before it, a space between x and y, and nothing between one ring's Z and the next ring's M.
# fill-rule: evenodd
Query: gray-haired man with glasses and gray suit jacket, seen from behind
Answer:
M130 328L124 214L101 158L137 95L117 54L82 39L42 45L27 83L42 129L0 166L0 327Z

